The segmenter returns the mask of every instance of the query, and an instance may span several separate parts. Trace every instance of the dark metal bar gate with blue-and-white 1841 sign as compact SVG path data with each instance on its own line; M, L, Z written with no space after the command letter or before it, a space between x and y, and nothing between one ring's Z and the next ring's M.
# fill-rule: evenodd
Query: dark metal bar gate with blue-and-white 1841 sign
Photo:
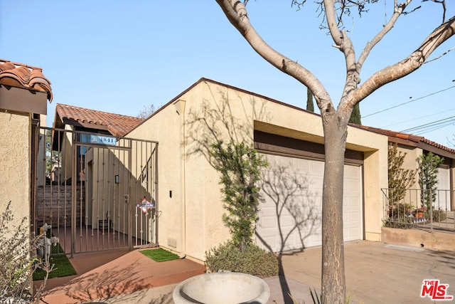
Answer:
M70 253L158 243L158 143L37 128L34 231Z

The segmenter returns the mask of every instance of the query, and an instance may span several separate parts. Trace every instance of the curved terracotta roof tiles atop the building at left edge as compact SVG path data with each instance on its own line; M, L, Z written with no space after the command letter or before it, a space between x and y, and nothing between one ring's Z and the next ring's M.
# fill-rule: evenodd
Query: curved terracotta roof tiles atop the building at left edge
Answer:
M41 68L0 59L0 85L45 92L49 102L52 102L51 83L44 77Z

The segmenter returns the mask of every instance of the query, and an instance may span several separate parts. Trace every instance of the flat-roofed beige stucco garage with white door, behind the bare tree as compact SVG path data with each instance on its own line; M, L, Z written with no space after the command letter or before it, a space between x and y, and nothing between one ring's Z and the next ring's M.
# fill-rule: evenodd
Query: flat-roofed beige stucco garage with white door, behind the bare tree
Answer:
M229 239L220 177L204 153L215 138L254 145L269 161L256 225L259 246L284 251L321 244L319 115L202 78L127 136L159 142L160 246L203 261L205 251ZM345 240L380 241L385 135L348 127L344 184Z

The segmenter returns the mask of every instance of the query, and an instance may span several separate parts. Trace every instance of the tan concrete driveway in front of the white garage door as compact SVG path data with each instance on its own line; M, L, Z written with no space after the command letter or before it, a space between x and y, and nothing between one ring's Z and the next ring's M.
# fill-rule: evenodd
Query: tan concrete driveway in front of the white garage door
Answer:
M320 288L321 248L283 256L282 265L288 280ZM345 266L351 303L434 303L420 297L425 279L449 284L446 295L455 297L455 251L357 241L345 243Z

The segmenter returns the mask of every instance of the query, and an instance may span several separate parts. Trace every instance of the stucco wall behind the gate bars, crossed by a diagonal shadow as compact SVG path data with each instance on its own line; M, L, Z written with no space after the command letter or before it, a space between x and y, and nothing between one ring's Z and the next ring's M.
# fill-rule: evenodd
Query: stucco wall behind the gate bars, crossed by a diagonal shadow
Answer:
M132 143L122 139L117 141L117 147L87 149L84 176L89 225L97 227L99 220L109 216L115 231L129 234L131 224L132 236L144 241L154 241L152 213L144 214L136 207L144 197L149 201L155 200L152 172L154 159L151 159L151 164L148 162L153 148L151 143ZM130 162L137 165L131 166ZM149 174L145 174L144 169L149 169ZM148 177L148 181L141 174ZM115 182L116 175L119 177L118 184ZM129 177L132 177L130 182Z

